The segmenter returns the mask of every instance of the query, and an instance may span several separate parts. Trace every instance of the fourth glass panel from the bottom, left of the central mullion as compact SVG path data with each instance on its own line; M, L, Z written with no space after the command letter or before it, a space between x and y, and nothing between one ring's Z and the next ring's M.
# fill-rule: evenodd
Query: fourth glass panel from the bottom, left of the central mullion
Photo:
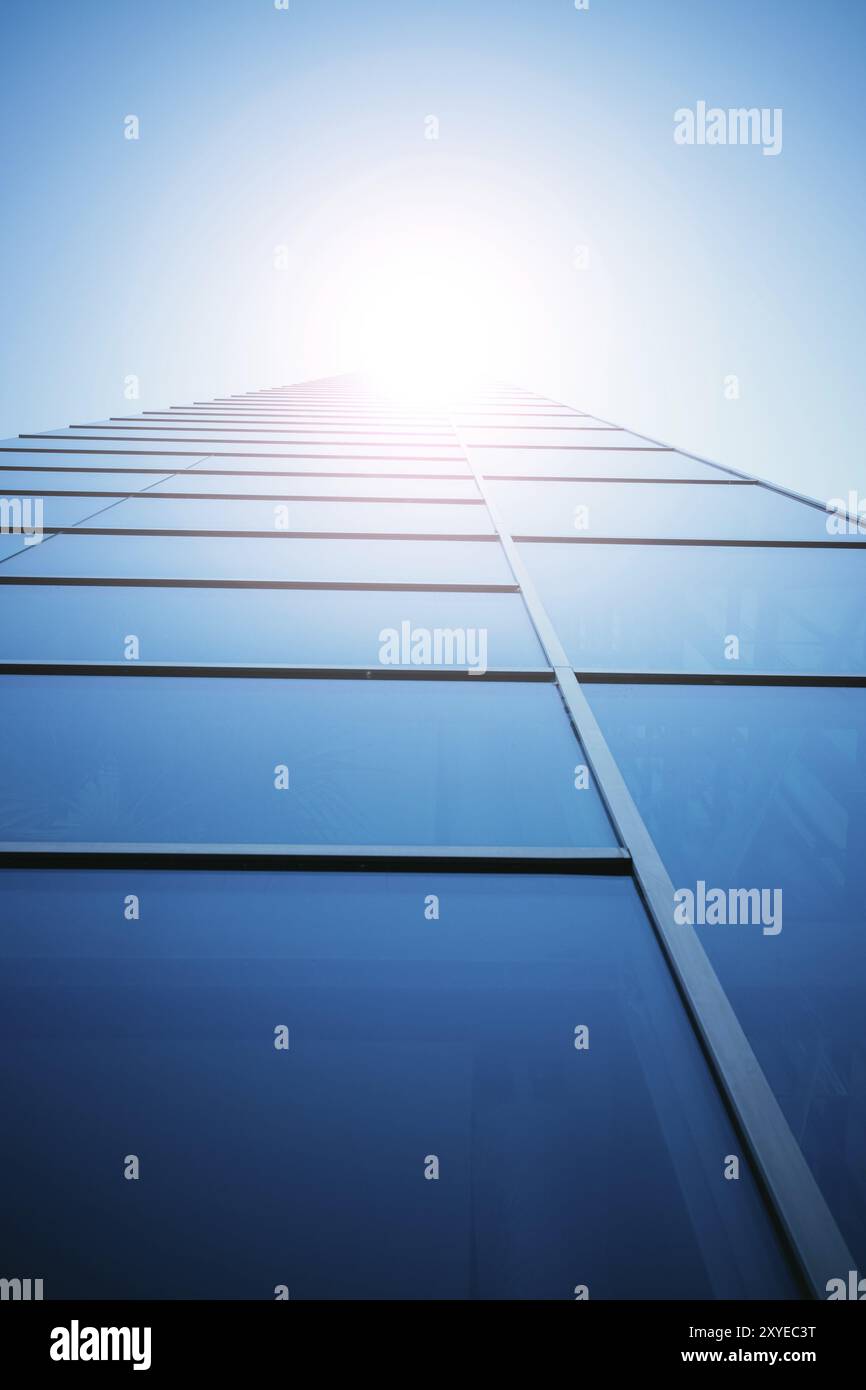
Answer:
M513 584L498 542L60 535L3 574L260 582Z

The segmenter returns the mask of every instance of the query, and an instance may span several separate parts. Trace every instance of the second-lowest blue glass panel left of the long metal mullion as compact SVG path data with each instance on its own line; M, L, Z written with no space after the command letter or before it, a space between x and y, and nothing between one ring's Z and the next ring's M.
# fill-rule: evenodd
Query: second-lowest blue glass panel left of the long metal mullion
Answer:
M553 685L4 676L0 720L6 841L614 844Z

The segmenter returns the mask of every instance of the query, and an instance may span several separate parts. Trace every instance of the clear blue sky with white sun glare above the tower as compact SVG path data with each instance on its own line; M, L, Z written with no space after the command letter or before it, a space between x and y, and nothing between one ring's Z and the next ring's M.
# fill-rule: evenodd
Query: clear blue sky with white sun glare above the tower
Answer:
M0 434L363 367L432 238L512 379L863 493L865 8L8 3ZM781 154L676 145L701 100L780 107Z

